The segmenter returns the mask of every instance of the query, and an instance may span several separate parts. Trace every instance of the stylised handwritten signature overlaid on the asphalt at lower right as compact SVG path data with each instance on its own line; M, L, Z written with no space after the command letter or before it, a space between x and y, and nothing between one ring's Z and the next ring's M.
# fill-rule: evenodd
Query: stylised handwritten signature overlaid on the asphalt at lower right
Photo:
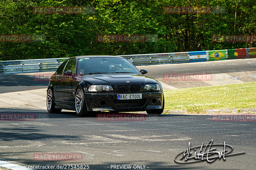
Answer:
M233 151L233 147L231 145L227 145L226 142L224 142L224 144L213 144L213 140L211 140L207 145L202 143L201 146L192 148L190 145L191 144L189 142L188 148L185 151L180 152L174 158L176 163L188 164L196 163L199 161L207 161L208 163L212 163L218 158L223 158L223 160L225 160L225 157L227 156L245 154L245 152L231 153Z

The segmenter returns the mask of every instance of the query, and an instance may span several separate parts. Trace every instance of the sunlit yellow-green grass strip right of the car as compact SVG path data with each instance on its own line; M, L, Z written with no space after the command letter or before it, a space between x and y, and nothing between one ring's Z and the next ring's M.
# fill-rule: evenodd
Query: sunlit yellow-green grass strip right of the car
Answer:
M164 91L164 110L235 109L256 107L256 82Z

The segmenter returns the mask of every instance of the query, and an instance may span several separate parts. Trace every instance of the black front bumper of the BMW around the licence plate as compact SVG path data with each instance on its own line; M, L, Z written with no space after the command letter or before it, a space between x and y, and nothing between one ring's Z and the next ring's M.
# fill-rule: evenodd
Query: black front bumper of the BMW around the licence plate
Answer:
M88 111L145 111L161 109L163 92L140 92L142 99L117 100L120 93L85 93ZM129 93L122 93L129 94ZM135 94L135 93L132 93Z

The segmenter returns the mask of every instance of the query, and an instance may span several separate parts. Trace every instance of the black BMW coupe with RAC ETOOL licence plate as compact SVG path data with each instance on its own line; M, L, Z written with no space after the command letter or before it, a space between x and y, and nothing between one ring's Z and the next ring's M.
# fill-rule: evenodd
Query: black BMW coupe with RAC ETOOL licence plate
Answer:
M145 111L162 114L163 88L144 76L128 60L118 56L77 56L65 60L51 76L47 110L75 110L77 116L94 111Z

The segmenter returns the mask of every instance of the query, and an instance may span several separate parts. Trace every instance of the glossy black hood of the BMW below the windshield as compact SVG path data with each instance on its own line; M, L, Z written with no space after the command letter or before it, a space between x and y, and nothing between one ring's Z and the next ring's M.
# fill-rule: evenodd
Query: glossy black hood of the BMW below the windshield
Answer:
M116 85L116 84L156 84L157 81L153 78L132 73L118 73L118 74L92 74L79 75L80 81L87 81L86 84L91 85ZM130 81L127 83L126 81Z

